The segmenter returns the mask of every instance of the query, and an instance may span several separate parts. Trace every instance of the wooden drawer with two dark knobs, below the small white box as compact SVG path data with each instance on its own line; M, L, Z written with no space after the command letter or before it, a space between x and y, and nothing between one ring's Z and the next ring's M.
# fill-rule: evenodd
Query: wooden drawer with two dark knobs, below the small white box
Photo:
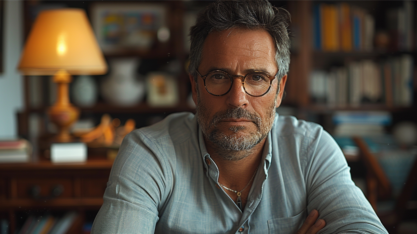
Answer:
M74 196L71 178L16 179L17 198L70 198Z

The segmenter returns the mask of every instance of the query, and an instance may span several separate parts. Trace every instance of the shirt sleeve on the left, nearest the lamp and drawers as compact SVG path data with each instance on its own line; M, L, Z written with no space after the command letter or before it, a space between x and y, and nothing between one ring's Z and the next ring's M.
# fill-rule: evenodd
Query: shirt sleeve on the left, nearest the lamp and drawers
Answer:
M91 234L154 233L172 178L152 140L138 130L125 137L110 173Z

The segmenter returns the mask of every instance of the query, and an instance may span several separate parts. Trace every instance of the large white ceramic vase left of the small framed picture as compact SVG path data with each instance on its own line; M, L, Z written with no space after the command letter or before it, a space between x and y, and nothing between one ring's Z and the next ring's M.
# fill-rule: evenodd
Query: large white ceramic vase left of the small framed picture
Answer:
M111 104L131 107L142 101L145 95L144 82L136 69L137 58L113 58L109 61L110 74L101 84L103 98Z

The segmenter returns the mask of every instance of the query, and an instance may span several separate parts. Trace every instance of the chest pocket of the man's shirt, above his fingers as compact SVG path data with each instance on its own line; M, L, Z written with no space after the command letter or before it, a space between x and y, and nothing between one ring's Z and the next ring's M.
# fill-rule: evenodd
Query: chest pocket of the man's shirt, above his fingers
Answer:
M307 217L307 209L296 216L268 220L269 234L295 234Z

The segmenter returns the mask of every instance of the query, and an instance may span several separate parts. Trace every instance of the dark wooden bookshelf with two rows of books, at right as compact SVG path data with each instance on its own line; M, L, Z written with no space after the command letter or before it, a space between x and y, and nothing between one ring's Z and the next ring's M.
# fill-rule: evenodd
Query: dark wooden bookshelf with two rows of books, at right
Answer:
M287 9L294 38L284 105L301 118L385 110L416 119L414 3L289 1Z

